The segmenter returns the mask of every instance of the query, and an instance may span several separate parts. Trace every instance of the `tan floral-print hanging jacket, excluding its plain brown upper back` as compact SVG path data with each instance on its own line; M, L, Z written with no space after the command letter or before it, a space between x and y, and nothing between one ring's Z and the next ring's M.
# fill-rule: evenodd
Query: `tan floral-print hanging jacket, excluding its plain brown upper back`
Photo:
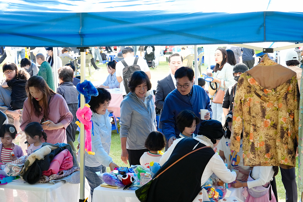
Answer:
M241 75L234 100L230 148L239 151L243 131L243 164L296 166L299 89L296 76L267 89L248 72Z

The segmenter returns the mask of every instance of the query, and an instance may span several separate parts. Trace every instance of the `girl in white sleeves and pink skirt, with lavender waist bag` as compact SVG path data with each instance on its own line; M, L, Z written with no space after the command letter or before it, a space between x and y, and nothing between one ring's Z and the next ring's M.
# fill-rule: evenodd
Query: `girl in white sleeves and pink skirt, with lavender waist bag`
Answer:
M271 180L279 172L278 166L255 166L251 171L239 168L240 173L249 174L248 181L235 180L232 187L247 187L242 194L247 194L245 202L276 202Z

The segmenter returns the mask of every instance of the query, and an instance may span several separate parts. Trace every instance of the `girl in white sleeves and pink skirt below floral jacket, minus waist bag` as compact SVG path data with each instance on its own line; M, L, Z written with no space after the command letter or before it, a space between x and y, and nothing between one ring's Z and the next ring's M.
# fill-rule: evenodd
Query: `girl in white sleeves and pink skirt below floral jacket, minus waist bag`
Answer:
M242 168L239 168L240 173L248 174L249 171L246 171ZM250 171L248 181L247 182L240 182L238 180L235 180L236 182L232 184L231 186L235 188L239 187L248 187L249 189L254 188L258 186L263 186L264 188L267 188L271 186L270 182L273 177L275 177L278 174L279 167L278 166L255 166L253 167L252 171ZM270 200L271 198L271 200ZM261 197L253 197L248 192L248 197L246 197L245 202L276 202L275 194L272 191L271 187L267 190L267 193L264 196Z

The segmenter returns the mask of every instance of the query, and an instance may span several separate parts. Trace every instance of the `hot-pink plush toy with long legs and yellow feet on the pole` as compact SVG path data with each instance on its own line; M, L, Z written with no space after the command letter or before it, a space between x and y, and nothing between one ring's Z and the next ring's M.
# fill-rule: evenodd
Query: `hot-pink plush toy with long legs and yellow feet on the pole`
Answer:
M92 110L89 108L88 104L85 104L84 108L79 108L76 112L76 116L79 121L84 125L85 129L85 151L88 154L95 155L95 152L92 152L92 136L91 136L91 129L92 129ZM83 117L82 117L83 115ZM80 124L79 121L76 121L76 124Z

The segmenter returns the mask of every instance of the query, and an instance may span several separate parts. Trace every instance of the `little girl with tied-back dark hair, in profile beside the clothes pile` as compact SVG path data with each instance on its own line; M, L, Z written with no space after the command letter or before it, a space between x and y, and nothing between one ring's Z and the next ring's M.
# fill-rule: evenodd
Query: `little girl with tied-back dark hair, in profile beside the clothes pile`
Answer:
M28 144L30 144L26 150L28 156L35 150L42 147L42 139L44 139L45 142L47 141L46 133L44 132L41 124L38 122L31 122L27 124L24 132L26 135L26 140Z

